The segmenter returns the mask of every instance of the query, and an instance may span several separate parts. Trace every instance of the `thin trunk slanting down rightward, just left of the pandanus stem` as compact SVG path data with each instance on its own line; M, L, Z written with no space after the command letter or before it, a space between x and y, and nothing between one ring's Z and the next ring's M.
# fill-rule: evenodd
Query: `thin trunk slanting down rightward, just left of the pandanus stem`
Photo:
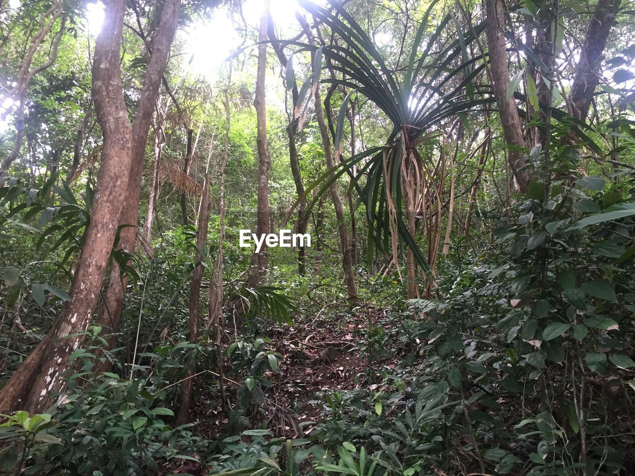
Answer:
M309 39L309 44L315 46L316 41L311 31L311 27L307 20L302 15L297 15L298 21L304 29L304 34ZM328 136L328 128L326 127L326 121L324 119L324 109L322 107L322 99L320 97L319 88L315 89L314 102L316 109L316 118L318 119L319 131L322 136L322 146L324 147L324 157L326 157L326 167L328 169L333 168L333 154L331 152L331 141ZM334 173L331 173L332 179ZM342 199L337 191L337 181L331 183L329 190L331 192L331 200L333 201L333 208L335 208L335 218L337 220L337 230L340 235L340 246L342 247L342 267L344 267L344 284L348 292L349 301L354 304L358 301L358 290L355 284L355 274L353 271L351 248L349 246L349 234L346 221L344 219L344 205L342 205Z

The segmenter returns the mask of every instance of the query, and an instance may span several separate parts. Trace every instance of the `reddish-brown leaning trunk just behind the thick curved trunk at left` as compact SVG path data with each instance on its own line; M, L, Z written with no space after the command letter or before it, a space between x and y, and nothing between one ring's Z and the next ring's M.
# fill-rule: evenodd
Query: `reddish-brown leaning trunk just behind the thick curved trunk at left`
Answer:
M152 111L159 95L161 78L168 62L170 45L177 30L179 3L180 0L166 0L163 4L161 22L154 41L152 41L152 55L145 74L144 87L138 101L137 114L135 114L135 122L132 129L132 166L128 176L128 188L126 193L123 194L124 209L121 213L121 220L117 222L121 225L131 225L121 230L119 239L119 248L125 249L128 253L134 253L135 251L145 146L148 140L150 122L152 121ZM99 325L104 328L107 334L116 333L119 330L126 286L128 286L128 277L121 276L119 266L113 261L104 305L102 305L98 317ZM113 345L114 336L110 336L109 347L112 348ZM110 368L110 362L102 360L102 363L96 368L97 372L107 371Z

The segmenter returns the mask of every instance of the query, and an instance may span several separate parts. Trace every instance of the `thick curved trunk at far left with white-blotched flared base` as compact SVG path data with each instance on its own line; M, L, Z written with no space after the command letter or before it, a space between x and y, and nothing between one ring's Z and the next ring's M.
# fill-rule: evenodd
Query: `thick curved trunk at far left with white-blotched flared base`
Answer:
M70 301L53 328L0 391L0 413L18 409L41 412L64 392L69 356L84 341L110 257L126 190L132 131L123 96L119 53L124 0L105 2L105 20L95 44L93 99L104 132L104 151L91 209L90 225L77 263ZM70 334L74 334L69 338Z

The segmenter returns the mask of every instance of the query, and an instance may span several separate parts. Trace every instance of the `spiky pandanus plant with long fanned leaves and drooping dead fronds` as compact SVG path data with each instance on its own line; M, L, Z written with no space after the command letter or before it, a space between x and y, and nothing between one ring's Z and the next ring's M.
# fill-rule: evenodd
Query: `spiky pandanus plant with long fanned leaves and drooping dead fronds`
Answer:
M467 50L474 35L484 27L478 25L463 32L457 19L447 14L424 41L429 18L438 3L434 0L418 26L407 64L390 69L368 34L342 5L336 0L328 3L323 7L300 0L316 23L331 30L331 42L319 49L294 43L302 46L302 50L315 51L313 73L300 88L296 116L302 123L309 102L307 92L318 87L324 56L333 74L322 82L330 83L331 92L335 88L348 91L340 107L337 128L331 131L337 157L341 159L344 119L353 94L365 96L380 109L389 119L392 131L384 145L340 160L335 166L337 173L328 171L306 192L319 187L318 195L323 194L347 169L358 165L359 173L351 187L359 187L365 177L363 188L358 190L368 218L369 263L376 246L387 258L387 269L396 265L399 272L400 246L407 249L408 297L419 294L415 261L424 271L429 294L441 242L441 197L451 165L450 124L456 124L457 118L465 121L465 113L493 102L486 94L487 89L484 93L474 86L474 79L484 66L478 63L481 58L471 58ZM448 30L452 34L448 35ZM293 82L293 63L290 65L288 85ZM307 207L307 213L313 204ZM415 240L418 220L423 221L428 238L427 257ZM448 225L450 222L451 218Z

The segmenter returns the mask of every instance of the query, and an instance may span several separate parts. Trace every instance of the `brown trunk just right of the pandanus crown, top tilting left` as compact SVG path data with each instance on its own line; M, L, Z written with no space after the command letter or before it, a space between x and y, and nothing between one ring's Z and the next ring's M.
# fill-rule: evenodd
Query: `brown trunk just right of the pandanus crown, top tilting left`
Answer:
M521 128L518 110L513 98L507 99L509 86L509 69L507 67L507 53L505 46L505 3L503 0L486 0L487 10L487 44L490 54L491 77L494 84L494 96L498 105L498 114L503 128L505 143L509 146L507 157L509 167L514 174L516 184L521 192L525 192L529 185L529 171L525 166L525 138Z

